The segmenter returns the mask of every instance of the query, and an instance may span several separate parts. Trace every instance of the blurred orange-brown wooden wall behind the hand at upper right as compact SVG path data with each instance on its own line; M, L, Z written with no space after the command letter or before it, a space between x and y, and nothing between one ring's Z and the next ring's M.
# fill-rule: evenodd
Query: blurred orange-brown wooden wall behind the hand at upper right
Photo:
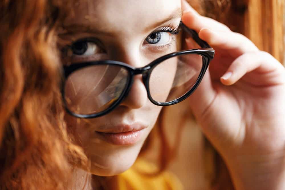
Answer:
M284 0L232 0L231 28L284 63Z

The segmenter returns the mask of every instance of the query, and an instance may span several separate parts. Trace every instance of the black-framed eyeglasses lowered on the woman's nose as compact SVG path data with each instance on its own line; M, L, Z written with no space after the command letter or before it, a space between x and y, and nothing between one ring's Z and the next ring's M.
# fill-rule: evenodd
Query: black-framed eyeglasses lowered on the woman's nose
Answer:
M182 22L180 28L202 48L170 53L142 68L113 60L64 66L62 96L66 111L79 118L109 113L127 97L139 74L148 99L155 105L174 105L189 97L201 82L215 50Z

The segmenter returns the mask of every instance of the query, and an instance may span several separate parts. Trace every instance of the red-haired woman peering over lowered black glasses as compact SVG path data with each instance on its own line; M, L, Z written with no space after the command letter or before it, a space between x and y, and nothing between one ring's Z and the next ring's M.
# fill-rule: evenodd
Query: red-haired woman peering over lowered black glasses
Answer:
M38 179L43 189L64 188L67 159L81 168L67 188L83 188L88 173L126 171L161 105L189 95L236 189L283 188L285 71L272 56L185 1L33 3L1 5L3 188L27 189Z

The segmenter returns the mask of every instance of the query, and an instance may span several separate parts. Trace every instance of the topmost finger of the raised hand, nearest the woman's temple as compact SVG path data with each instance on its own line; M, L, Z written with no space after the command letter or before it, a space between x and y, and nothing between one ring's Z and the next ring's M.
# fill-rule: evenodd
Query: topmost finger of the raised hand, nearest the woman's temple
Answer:
M219 23L218 21L215 21L214 19L199 15L189 4L182 5L182 6L185 9L182 15L182 22L187 27L192 28L196 32L199 32L202 28L209 28L209 29L221 30L221 31L230 30L229 27L227 27L225 24Z

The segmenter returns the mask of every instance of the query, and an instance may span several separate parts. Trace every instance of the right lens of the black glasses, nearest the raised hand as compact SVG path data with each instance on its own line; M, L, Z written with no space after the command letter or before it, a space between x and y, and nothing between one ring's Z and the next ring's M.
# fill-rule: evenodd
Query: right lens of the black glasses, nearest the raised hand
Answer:
M161 103L182 97L194 86L202 67L203 57L197 54L175 56L161 62L150 74L150 96Z

